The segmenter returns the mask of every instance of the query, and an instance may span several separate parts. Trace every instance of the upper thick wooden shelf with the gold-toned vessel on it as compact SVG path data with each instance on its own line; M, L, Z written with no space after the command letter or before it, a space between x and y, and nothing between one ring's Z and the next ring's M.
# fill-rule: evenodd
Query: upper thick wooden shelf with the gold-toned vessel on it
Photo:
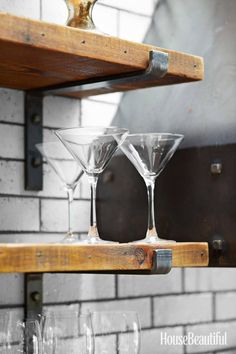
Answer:
M0 13L0 86L20 90L143 71L149 52L169 54L165 77L120 91L203 79L201 57ZM93 92L98 94L101 92ZM70 93L84 97L86 93Z

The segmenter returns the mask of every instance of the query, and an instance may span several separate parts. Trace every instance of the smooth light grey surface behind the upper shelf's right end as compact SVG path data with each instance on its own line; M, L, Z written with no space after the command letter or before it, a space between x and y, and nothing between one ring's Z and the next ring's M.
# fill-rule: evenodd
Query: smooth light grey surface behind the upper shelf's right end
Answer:
M185 134L181 147L236 141L236 1L161 0L145 42L204 57L205 80L124 95L114 124Z

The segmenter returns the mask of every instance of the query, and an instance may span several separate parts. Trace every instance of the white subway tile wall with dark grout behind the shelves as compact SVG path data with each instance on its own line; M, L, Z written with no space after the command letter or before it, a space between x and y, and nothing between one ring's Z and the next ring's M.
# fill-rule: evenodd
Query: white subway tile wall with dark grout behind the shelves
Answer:
M94 20L100 31L142 41L155 0L100 0ZM64 24L63 0L1 0L0 11ZM59 127L107 125L121 94L73 100L44 99L44 140ZM57 242L67 229L67 201L58 177L44 165L44 190L24 190L24 94L0 89L0 242ZM76 192L73 226L86 233L89 188L85 177ZM176 269L168 276L48 274L44 276L47 310L136 310L143 327L141 354L236 352L236 270ZM0 318L23 316L23 275L0 276ZM226 292L224 292L226 291ZM161 345L161 333L183 335L227 331L225 347Z

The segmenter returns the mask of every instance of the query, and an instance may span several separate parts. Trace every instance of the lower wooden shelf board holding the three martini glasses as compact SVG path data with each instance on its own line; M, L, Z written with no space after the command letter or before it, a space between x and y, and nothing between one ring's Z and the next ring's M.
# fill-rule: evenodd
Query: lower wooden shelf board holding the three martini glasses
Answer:
M207 243L0 244L0 273L151 272L153 252L173 250L173 267L206 267Z

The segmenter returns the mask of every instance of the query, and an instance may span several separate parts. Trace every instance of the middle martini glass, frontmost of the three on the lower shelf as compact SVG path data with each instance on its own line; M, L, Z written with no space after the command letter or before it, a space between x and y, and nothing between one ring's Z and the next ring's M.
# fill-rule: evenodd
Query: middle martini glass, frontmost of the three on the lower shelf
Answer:
M91 188L90 228L86 243L107 243L100 239L96 219L96 188L99 175L128 134L115 127L83 127L57 130L56 135L88 177Z

